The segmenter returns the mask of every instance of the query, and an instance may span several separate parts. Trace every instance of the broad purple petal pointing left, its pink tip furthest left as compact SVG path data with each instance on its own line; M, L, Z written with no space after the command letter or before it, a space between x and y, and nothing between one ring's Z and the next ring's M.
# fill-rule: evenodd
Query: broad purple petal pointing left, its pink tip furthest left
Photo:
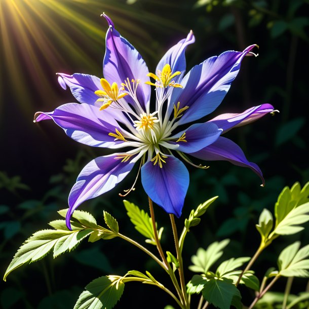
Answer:
M54 111L38 115L35 122L52 119L72 139L95 147L118 148L123 141L114 141L108 133L118 129L117 121L108 110L99 110L89 104L68 103L59 106Z

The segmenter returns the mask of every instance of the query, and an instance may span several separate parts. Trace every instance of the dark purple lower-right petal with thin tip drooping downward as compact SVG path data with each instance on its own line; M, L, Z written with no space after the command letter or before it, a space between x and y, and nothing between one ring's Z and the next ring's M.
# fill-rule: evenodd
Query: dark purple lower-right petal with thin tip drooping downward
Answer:
M262 185L265 184L260 168L255 163L249 162L243 150L228 138L220 136L211 145L190 155L205 161L229 161L238 166L248 167L261 178Z

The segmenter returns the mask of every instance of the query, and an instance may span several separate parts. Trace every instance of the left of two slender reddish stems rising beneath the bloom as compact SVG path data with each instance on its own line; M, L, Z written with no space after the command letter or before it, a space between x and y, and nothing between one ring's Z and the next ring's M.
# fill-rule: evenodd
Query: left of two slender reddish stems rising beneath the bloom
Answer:
M155 241L157 244L157 248L159 251L159 254L163 260L163 265L165 270L167 271L167 273L170 275L171 280L175 286L175 289L177 291L177 294L179 296L179 298L181 299L181 301L185 304L185 298L183 297L183 294L181 293L181 289L179 287L178 281L176 279L176 276L173 272L173 269L171 268L171 265L168 263L168 261L166 260L166 257L164 255L164 252L162 250L162 246L160 244L160 240L158 237L158 231L157 231L157 226L156 226L156 219L155 219L155 212L153 211L153 205L152 205L152 200L148 197L148 201L149 201L149 209L150 209L150 216L151 216L151 222L152 222L152 226L153 226L153 235L155 236Z

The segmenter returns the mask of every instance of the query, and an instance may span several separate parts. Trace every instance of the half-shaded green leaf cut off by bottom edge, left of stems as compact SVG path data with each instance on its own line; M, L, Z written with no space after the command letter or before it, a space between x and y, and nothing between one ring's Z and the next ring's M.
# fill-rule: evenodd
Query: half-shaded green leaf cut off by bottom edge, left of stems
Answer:
M125 284L112 276L100 277L86 286L74 309L111 309L123 294Z

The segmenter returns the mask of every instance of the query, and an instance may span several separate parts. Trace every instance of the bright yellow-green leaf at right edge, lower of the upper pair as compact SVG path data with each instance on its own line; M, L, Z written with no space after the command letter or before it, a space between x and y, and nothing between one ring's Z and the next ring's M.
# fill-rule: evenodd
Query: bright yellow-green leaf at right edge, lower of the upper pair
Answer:
M275 227L273 233L278 235L291 235L297 233L303 229L299 224L309 221L308 213L309 202L292 209Z

